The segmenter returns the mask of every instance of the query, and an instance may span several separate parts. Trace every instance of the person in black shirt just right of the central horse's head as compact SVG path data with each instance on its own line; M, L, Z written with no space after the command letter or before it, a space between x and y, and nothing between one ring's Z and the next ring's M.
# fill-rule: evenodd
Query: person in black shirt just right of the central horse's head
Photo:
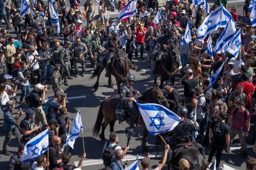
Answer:
M177 108L180 104L180 94L177 89L174 89L172 86L166 85L164 87L164 91L166 92L165 98L167 99L168 103L170 104L169 109L176 113Z

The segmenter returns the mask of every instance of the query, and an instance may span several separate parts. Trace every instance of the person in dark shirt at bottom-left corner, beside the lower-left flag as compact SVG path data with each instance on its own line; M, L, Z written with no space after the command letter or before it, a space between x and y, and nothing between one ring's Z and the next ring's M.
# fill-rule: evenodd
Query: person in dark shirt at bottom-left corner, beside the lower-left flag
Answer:
M12 157L10 157L10 161L8 163L7 169L13 169L13 170L28 170L30 169L29 162L20 162L20 157L22 153L24 152L25 146L21 143L18 148L18 152L13 154Z

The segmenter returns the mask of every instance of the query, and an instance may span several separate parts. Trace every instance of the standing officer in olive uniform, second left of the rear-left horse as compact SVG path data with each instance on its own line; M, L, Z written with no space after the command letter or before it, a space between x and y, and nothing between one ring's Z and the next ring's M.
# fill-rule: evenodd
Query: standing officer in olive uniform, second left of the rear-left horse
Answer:
M73 79L70 76L70 51L69 51L69 41L65 41L63 48L60 50L60 58L62 59L61 65L63 66L63 78L64 78L64 85L68 86L67 79Z

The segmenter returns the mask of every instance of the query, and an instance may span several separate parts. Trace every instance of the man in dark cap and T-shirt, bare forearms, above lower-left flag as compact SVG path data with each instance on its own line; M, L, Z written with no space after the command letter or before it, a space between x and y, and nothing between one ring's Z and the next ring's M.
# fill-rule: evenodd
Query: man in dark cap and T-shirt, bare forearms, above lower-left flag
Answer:
M25 110L26 117L20 122L20 129L23 132L22 143L27 143L31 138L38 134L39 126L33 124L35 111L31 108Z

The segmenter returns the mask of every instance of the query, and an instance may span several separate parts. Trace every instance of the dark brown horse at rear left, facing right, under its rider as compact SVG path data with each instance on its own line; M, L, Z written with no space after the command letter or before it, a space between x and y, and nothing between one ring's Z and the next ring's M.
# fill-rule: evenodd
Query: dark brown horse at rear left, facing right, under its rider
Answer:
M105 54L102 53L100 55L105 55ZM100 58L100 56L98 58ZM121 83L125 82L126 76L130 74L129 69L137 69L137 66L131 63L131 61L128 59L128 57L126 56L126 54L123 52L122 49L118 48L116 50L115 56L113 56L113 59L111 60L111 66L110 66L110 73L116 78L118 94L120 94ZM93 79L95 78L95 76L97 76L97 81L93 85L93 88L95 91L98 90L99 88L99 78L103 70L104 70L104 66L102 66L102 64L98 64L94 73L90 77L90 79ZM113 87L114 85L113 85L113 82L111 81L111 74L108 77L108 85L110 87Z

